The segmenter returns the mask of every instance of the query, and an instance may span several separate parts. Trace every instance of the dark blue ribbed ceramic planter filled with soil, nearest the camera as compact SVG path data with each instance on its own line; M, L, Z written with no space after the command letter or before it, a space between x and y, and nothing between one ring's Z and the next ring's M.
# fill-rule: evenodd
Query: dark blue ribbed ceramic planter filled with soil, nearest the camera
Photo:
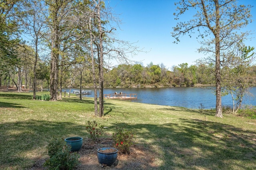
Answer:
M106 150L113 150L113 152L105 152ZM98 162L100 164L106 164L107 166L111 166L116 162L118 150L115 148L100 148L97 150Z

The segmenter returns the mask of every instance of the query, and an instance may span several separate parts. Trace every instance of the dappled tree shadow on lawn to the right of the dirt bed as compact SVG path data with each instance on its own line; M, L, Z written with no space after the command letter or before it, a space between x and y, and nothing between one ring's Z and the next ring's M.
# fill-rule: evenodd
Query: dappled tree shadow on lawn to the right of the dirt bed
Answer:
M138 144L158 160L155 169L256 169L256 135L234 126L179 119L164 125L116 123L134 129Z

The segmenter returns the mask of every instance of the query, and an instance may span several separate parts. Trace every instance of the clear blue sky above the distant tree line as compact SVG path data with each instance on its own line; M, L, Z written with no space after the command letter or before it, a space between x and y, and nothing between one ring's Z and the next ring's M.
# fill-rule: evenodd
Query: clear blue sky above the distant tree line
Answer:
M198 53L200 43L196 34L192 38L188 35L182 37L180 43L174 44L175 39L171 36L172 27L176 26L173 13L176 12L174 2L177 0L106 0L113 8L115 14L120 14L122 21L116 34L119 39L135 43L147 53L138 53L131 58L141 61L144 66L150 62L153 64L163 63L169 70L171 67L182 63L196 64L194 61L207 57ZM240 0L239 3L251 4L253 20L256 18L256 0ZM186 13L184 17L191 18L193 14ZM250 23L246 29L255 32L256 21ZM254 36L255 37L255 36ZM256 39L246 45L256 47Z

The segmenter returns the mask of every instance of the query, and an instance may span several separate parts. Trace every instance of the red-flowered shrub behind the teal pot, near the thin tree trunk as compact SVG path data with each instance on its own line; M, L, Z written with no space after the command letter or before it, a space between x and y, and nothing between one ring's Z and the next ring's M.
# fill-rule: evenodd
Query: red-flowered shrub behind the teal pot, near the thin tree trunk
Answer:
M100 126L95 120L87 121L86 131L90 134L90 138L94 141L97 141L102 135L103 126Z

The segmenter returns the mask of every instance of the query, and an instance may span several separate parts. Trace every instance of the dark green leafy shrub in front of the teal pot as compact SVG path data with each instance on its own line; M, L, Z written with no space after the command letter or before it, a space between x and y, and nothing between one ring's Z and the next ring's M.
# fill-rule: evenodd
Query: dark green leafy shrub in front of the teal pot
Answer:
M44 163L48 170L73 170L78 166L80 157L76 152L71 152L71 147L62 139L54 139L46 147L50 156Z

